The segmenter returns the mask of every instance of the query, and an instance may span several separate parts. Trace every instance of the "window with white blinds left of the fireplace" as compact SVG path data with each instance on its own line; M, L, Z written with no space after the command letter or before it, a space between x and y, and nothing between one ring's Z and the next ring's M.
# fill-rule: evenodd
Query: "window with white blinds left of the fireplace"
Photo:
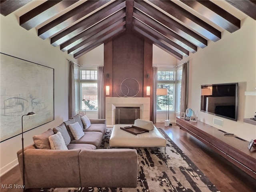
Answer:
M96 68L75 67L75 105L80 110L98 110L98 72Z

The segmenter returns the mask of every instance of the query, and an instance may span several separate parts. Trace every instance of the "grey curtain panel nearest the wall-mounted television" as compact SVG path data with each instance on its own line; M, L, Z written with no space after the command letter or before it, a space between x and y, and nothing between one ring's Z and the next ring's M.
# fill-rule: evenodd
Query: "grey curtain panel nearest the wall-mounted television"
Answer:
M185 62L182 66L180 112L185 112L187 108L187 68L188 62Z

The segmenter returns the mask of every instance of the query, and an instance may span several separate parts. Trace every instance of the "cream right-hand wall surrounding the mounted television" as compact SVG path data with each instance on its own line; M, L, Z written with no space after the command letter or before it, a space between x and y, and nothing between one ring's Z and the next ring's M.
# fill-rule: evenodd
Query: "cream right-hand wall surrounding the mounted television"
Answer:
M248 141L256 138L256 126L243 123L243 119L254 116L256 97L244 96L244 92L255 91L255 53L256 21L246 18L242 20L240 30L232 34L225 31L221 40L208 42L206 48L190 54L188 65L188 107L194 110L198 120ZM200 112L200 85L231 82L239 84L238 122ZM214 117L223 120L224 125L213 124Z

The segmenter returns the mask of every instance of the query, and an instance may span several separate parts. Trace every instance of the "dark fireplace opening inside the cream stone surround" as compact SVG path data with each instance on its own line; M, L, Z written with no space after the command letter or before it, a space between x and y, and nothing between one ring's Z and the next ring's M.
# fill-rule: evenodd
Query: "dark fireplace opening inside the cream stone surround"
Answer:
M140 107L116 107L115 124L134 124L140 118Z

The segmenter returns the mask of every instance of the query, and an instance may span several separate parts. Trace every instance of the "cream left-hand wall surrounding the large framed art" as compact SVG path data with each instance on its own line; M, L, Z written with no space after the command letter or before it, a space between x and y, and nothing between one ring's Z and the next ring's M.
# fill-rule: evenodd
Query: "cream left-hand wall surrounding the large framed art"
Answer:
M68 61L74 60L59 47L50 45L49 39L42 40L36 30L27 31L20 27L14 14L0 15L0 51L11 56L54 68L54 113L55 120L24 133L24 146L33 143L32 136L41 134L68 120ZM36 116L33 116L36 118ZM20 120L21 121L21 120ZM21 149L21 135L0 143L0 174L15 166L16 152Z

